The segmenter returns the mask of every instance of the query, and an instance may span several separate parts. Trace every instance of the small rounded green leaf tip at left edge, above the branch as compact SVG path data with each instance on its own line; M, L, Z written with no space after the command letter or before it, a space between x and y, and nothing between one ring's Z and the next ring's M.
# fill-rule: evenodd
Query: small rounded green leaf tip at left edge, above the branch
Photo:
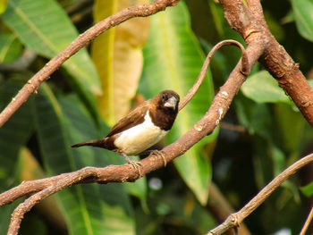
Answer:
M0 35L0 63L10 63L21 54L21 43L13 34Z

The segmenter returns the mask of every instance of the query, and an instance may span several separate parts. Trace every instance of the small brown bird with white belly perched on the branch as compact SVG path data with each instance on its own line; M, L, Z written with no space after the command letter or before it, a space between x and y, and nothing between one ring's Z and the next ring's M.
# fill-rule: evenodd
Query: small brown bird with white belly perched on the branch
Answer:
M165 137L172 129L179 102L180 96L173 90L161 91L156 97L142 102L131 110L113 126L105 138L82 142L72 147L106 148L123 155L125 160L140 172L140 163L131 161L129 155L145 153ZM165 161L165 157L162 154L161 156Z

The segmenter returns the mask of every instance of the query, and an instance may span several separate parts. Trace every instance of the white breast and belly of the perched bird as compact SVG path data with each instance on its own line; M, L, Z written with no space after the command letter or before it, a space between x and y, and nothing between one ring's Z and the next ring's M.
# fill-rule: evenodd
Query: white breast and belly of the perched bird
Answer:
M167 132L155 126L147 112L145 121L129 130L124 130L122 135L115 139L114 145L126 155L138 155L157 144Z

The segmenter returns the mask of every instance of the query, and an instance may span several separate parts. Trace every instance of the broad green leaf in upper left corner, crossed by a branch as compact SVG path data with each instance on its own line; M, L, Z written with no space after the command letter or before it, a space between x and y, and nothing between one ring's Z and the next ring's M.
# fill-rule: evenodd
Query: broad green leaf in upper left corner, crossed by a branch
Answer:
M3 20L26 46L48 58L78 37L72 22L54 0L10 0ZM87 88L96 94L101 92L97 71L86 48L80 49L63 66L80 89Z

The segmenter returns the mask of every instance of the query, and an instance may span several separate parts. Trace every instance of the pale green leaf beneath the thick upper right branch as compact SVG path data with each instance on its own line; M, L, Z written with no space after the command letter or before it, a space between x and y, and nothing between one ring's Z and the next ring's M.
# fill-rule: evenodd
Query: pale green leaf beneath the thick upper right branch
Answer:
M268 71L259 71L250 76L242 87L242 93L257 103L287 103L292 101L287 97L282 88L279 88L277 81Z

